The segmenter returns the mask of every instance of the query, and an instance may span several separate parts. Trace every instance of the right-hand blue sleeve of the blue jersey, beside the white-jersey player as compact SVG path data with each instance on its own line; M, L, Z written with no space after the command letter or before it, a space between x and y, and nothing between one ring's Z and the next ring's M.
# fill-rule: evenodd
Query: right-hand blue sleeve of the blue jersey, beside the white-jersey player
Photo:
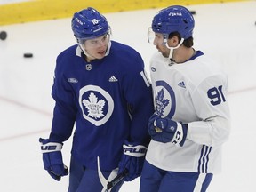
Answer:
M130 141L148 145L148 119L154 113L152 87L141 57L132 62L135 67L128 69L123 84L124 98L132 119Z

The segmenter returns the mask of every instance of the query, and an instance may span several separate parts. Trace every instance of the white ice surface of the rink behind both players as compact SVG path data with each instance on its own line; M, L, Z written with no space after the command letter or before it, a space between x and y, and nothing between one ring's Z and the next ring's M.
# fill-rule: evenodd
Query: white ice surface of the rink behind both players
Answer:
M223 148L223 170L208 192L256 191L256 1L191 5L195 10L195 48L222 63L229 76L232 132ZM113 39L130 44L148 60L155 47L147 29L156 10L108 13ZM52 76L57 54L75 44L70 18L0 26L0 191L64 192L68 177L52 180L44 171L38 138L52 122ZM23 58L31 52L33 58ZM254 130L255 129L255 130ZM64 144L69 164L71 140ZM137 192L139 180L121 192ZM170 190L171 192L171 190ZM175 192L175 191L173 191Z

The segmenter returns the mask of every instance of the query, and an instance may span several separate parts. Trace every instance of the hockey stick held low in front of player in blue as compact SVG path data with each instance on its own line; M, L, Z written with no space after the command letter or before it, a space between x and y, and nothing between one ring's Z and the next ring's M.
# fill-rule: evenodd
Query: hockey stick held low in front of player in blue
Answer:
M109 189L116 186L116 184L118 182L120 182L121 180L123 180L124 177L128 174L128 170L124 169L124 171L120 172L118 175L116 175L116 177L113 180L108 181L105 179L104 175L102 174L102 172L100 170L100 157L99 156L97 156L97 163L98 163L98 175L99 175L100 183L103 186L102 191L104 191L104 192L108 192Z

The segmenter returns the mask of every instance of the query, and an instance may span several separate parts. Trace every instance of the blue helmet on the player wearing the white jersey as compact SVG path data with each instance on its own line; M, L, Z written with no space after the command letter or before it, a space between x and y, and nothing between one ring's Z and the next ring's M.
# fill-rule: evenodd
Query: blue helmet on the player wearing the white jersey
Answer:
M151 28L156 33L169 35L179 32L181 38L193 35L195 20L187 8L180 5L169 6L159 12L152 21Z

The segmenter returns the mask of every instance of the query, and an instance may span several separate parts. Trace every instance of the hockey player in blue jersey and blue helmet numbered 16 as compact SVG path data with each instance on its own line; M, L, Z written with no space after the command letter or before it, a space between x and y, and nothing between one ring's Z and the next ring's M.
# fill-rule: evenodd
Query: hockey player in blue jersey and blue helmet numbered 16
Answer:
M140 176L154 113L144 63L131 47L110 40L100 12L76 12L72 30L78 44L56 60L52 98L55 107L49 139L40 138L44 169L55 180L68 175L61 148L74 130L68 192L100 192L124 170L124 181ZM100 174L102 173L100 177Z

